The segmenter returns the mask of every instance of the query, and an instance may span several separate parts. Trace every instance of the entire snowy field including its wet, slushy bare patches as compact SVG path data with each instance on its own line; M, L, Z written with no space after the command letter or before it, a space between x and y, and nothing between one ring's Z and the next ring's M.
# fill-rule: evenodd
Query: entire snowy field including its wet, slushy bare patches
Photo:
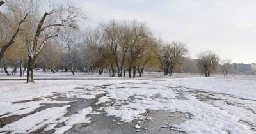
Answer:
M0 80L0 133L256 133L252 76L35 78Z

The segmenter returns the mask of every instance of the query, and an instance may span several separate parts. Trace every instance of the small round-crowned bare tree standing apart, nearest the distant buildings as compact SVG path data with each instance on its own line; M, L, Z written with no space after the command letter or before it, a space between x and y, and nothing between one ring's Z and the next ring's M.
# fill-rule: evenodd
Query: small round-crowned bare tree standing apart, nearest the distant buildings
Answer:
M210 77L211 71L215 70L218 65L219 57L215 52L202 52L198 56L198 65L205 73L205 77Z

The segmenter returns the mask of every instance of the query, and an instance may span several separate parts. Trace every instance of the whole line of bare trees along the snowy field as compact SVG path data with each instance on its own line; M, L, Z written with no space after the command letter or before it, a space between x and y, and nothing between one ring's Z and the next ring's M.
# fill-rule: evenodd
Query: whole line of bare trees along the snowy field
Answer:
M230 61L220 66L214 52L204 52L198 59L187 56L186 45L180 41L160 40L147 24L112 20L95 29L81 30L84 13L73 4L42 1L6 1L0 12L0 67L7 75L20 68L33 82L33 71L108 72L113 77L142 76L145 71L204 73L222 68L230 70ZM11 68L11 70L8 70Z

